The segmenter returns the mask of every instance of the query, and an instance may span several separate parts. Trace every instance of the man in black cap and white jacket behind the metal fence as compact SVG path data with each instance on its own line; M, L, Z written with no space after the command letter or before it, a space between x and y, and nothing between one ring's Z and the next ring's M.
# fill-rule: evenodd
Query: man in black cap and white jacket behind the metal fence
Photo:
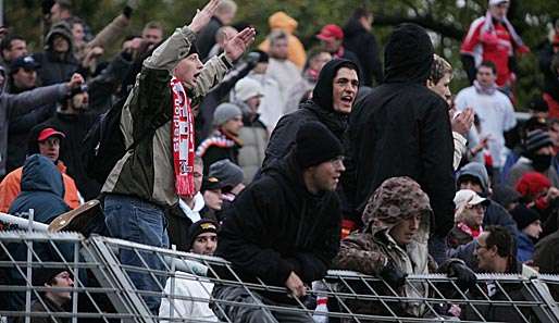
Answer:
M213 256L218 248L218 228L215 221L202 219L188 229L188 241L182 249L202 256ZM213 283L206 277L177 271L167 279L164 293L177 299L165 297L159 308L160 322L170 318L187 321L218 322L215 314L209 308ZM181 297L178 299L178 297ZM171 306L173 302L173 306Z

